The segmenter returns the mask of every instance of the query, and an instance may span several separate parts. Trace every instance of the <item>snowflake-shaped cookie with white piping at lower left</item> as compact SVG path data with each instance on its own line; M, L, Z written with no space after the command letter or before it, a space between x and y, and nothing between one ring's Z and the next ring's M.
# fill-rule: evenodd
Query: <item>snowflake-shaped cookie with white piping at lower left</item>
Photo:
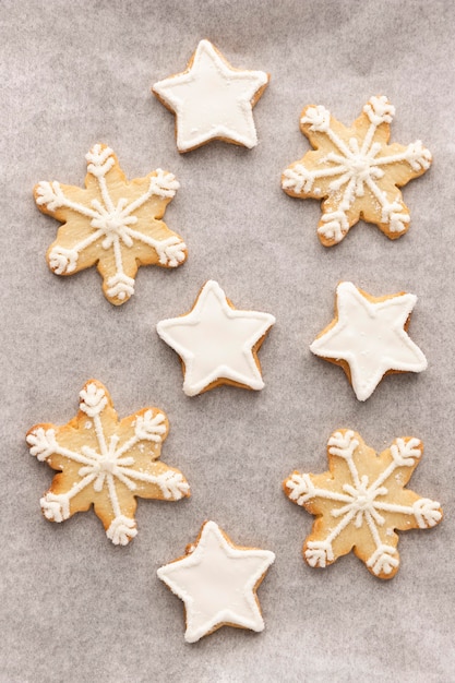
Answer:
M158 408L118 420L108 391L91 380L80 410L63 427L35 424L27 433L32 455L59 474L40 500L50 522L63 522L94 505L107 537L125 546L136 536L135 498L178 501L190 487L178 469L157 463L169 423Z

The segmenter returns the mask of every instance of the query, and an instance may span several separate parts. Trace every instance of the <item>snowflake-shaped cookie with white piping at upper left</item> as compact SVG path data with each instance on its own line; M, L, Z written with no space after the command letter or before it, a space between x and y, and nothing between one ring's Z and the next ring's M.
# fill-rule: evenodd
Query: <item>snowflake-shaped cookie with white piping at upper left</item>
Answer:
M106 298L119 305L134 293L140 265L173 268L187 259L184 242L160 220L179 183L160 168L128 181L106 145L94 145L85 158L85 189L58 181L35 187L38 208L63 223L47 262L57 275L96 264Z

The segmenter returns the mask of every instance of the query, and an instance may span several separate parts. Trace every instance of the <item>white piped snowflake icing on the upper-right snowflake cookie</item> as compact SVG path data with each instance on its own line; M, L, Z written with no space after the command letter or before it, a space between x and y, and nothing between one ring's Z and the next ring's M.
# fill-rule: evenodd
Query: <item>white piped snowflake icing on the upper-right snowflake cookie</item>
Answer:
M371 97L363 111L370 119L363 141L359 144L357 137L351 137L346 144L331 128L330 111L322 106L309 107L301 123L309 123L311 131L324 133L332 142L333 152L321 159L321 168L310 170L303 164L296 164L284 172L283 189L291 190L296 194L311 192L319 178L334 177L330 183L330 195L339 194L339 200L336 202L336 209L322 215L323 225L318 228L322 237L334 242L339 242L349 230L347 213L356 197L364 195L366 189L381 207L381 223L387 225L390 232L404 232L409 223L409 214L400 202L399 191L397 190L395 199L390 200L380 181L386 175L390 164L406 161L415 171L426 170L431 164L431 154L420 140L409 144L403 153L380 155L383 144L375 141L378 127L390 123L395 113L395 108L385 96Z

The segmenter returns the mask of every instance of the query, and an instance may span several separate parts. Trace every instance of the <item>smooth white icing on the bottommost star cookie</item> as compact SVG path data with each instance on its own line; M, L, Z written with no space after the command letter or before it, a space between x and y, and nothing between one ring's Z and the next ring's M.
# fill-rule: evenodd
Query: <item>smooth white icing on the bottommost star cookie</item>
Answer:
M234 547L215 522L205 523L191 553L157 571L184 602L184 639L195 643L221 624L263 631L255 587L274 560L268 550Z

